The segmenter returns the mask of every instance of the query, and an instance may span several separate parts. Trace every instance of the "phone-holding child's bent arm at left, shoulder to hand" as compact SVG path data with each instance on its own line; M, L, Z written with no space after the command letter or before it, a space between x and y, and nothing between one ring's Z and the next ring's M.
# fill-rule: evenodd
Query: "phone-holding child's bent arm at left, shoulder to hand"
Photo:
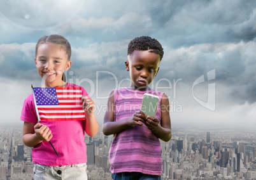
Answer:
M132 117L123 120L114 120L115 117L115 99L114 91L110 93L108 98L108 108L106 110L104 121L103 121L103 134L109 136L111 134L117 134L123 131L127 127L134 127L135 125L143 125L144 120L142 119L143 113L140 111L134 112Z

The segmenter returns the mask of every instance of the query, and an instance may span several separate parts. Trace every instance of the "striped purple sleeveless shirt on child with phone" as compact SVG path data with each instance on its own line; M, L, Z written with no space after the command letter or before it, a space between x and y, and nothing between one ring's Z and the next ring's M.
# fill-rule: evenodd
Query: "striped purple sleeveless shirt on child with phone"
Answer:
M159 105L155 118L161 120L159 91L135 91L114 89L115 92L115 120L131 117L136 110L140 110L145 93L159 96ZM128 127L114 135L110 147L110 170L118 172L141 172L160 176L162 174L162 158L159 139L148 130L146 125Z

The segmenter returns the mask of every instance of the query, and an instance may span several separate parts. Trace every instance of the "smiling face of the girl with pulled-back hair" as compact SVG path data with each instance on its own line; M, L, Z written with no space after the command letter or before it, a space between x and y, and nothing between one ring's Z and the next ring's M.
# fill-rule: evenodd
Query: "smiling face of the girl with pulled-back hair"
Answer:
M38 74L43 78L45 87L63 86L62 74L71 67L66 49L59 44L46 42L40 44L34 58Z

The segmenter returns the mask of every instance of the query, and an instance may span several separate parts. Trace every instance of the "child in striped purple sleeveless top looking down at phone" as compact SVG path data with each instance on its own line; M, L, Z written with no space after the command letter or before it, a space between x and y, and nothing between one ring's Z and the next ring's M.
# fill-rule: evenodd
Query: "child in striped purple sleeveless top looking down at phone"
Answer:
M162 159L159 139L171 139L169 100L166 94L150 89L162 60L161 44L148 36L136 37L128 46L125 68L131 85L114 89L108 99L103 133L114 134L110 147L110 170L113 179L160 179ZM155 117L140 110L143 95L159 97Z

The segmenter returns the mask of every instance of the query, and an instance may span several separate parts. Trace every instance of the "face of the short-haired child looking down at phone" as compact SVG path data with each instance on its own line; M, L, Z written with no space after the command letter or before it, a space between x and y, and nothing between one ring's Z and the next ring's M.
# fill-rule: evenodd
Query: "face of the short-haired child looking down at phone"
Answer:
M130 72L134 89L146 90L159 70L160 55L149 51L133 51L125 61L125 68Z

